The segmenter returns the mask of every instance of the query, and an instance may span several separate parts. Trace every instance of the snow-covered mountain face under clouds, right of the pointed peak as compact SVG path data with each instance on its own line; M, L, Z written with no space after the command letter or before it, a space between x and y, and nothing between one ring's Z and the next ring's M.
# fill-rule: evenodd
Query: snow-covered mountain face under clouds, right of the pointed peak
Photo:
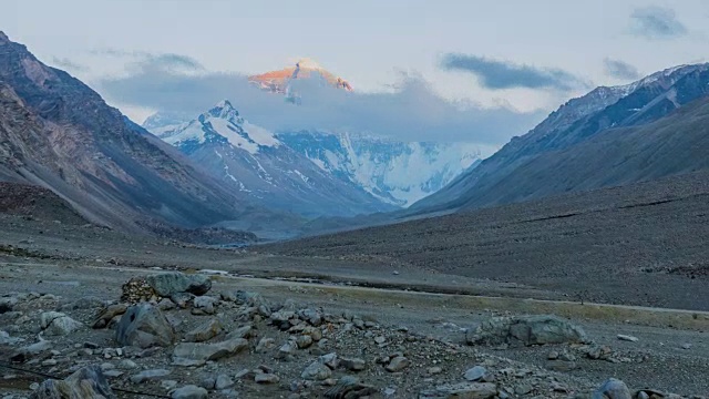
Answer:
M279 133L277 137L321 170L398 206L435 193L481 156L475 145L465 143L405 143L322 132Z

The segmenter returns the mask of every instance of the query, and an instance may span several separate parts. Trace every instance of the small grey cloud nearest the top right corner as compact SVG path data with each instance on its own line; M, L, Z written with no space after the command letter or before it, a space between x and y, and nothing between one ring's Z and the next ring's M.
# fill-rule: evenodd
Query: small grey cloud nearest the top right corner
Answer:
M675 10L664 7L638 8L630 14L630 32L645 39L675 39L688 33Z

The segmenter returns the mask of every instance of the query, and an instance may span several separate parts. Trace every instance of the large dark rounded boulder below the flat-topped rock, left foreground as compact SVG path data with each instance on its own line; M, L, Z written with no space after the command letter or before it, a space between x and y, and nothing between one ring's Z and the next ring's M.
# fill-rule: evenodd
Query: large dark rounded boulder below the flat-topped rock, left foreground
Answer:
M121 317L115 340L122 346L166 347L175 340L175 331L158 308L142 304L131 306Z

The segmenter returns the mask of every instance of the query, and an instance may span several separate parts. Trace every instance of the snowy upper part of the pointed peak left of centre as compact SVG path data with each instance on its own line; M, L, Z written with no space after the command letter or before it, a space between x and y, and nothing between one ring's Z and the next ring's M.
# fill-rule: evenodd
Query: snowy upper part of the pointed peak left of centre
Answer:
M248 123L228 100L218 102L196 120L156 134L168 144L184 147L187 152L192 146L213 141L226 141L235 149L251 154L263 147L281 144L268 130Z

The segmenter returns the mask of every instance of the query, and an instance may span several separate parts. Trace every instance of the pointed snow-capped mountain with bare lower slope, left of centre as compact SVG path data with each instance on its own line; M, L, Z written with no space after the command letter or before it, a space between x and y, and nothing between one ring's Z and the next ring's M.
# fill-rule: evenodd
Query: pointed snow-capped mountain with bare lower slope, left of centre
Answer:
M160 119L152 119L156 120ZM268 208L306 217L353 216L395 208L321 170L271 132L242 117L228 101L176 129L158 130L162 140L223 185Z

